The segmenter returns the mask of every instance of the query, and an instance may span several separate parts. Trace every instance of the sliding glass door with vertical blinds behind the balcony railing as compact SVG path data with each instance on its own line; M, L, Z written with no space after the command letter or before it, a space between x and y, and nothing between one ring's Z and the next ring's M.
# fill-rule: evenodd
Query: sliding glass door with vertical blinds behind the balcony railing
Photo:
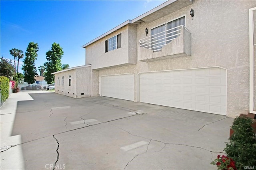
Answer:
M168 22L166 24L162 24L156 28L151 29L151 37L152 37L152 49L154 51L159 51L162 46L166 43L171 42L177 35L178 26L185 26L186 20L185 16Z

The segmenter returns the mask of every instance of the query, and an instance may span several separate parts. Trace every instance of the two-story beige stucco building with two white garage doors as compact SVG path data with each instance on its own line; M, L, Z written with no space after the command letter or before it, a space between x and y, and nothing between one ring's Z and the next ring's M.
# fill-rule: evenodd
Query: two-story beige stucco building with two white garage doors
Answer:
M228 117L256 113L255 6L255 0L167 1L83 45L86 65L53 73L64 82L55 92Z

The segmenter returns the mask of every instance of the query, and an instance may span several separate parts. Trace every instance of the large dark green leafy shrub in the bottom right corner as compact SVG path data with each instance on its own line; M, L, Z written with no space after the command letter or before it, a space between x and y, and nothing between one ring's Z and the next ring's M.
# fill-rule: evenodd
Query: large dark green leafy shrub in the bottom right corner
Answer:
M236 162L237 169L256 166L256 135L252 123L251 118L236 117L231 127L234 133L226 143L224 151Z

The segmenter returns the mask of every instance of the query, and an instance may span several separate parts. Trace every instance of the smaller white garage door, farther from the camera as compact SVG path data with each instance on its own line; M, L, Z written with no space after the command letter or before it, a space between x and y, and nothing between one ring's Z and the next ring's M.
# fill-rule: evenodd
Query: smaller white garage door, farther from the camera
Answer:
M108 75L100 80L101 95L134 101L134 75Z

